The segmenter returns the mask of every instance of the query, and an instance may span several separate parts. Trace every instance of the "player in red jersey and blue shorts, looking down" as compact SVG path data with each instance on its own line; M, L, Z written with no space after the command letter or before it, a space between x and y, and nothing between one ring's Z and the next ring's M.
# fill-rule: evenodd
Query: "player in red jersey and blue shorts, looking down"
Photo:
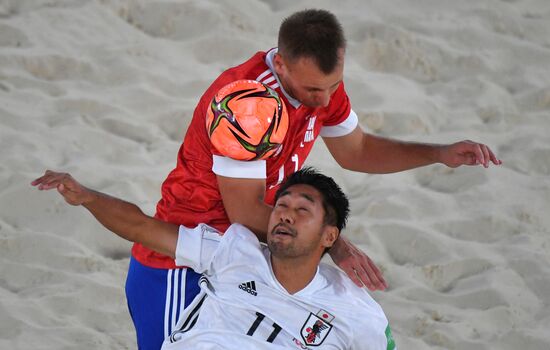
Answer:
M433 163L500 164L489 147L476 142L421 144L364 132L344 88L344 54L343 31L334 15L306 10L282 23L278 48L259 52L223 72L194 111L176 168L162 185L156 217L188 227L207 223L222 232L239 222L265 238L278 186L302 167L318 136L334 159L352 171L391 173ZM268 160L225 158L208 139L205 118L210 101L218 89L239 79L270 86L287 106L290 122L284 145ZM348 241L339 239L330 254L357 285L385 288L376 266ZM197 279L192 270L174 266L169 257L134 245L126 292L140 348L160 348L180 309L198 291Z

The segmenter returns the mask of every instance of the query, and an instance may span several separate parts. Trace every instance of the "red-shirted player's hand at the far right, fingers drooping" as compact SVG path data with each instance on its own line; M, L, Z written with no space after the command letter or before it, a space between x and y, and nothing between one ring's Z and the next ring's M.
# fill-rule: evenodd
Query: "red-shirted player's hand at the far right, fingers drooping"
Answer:
M493 151L482 143L465 140L440 148L439 161L451 168L461 165L479 165L489 167L489 162L495 165L502 164Z

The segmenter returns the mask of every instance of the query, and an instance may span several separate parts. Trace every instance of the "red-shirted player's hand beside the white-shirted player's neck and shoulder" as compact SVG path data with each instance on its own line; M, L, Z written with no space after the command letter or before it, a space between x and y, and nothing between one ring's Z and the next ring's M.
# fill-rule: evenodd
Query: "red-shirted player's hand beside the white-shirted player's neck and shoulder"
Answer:
M348 239L340 236L329 255L358 287L366 286L371 291L388 288L378 267Z

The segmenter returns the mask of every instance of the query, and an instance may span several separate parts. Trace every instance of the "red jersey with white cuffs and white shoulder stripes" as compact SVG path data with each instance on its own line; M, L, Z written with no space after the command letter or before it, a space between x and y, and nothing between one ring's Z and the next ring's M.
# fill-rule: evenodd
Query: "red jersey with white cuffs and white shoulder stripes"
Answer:
M273 69L277 49L258 52L245 63L223 72L202 95L181 145L176 168L162 184L162 198L155 217L177 225L195 227L206 223L224 232L230 225L218 190L216 175L266 179L265 202L273 205L277 188L291 173L299 170L317 136L343 136L357 126L344 84L331 96L327 107L307 107L289 96ZM280 151L267 160L237 161L226 158L210 143L206 132L206 110L216 92L239 79L260 81L273 88L286 104L288 132ZM154 233L153 233L154 234ZM143 265L174 268L174 260L141 244L134 244L132 255Z

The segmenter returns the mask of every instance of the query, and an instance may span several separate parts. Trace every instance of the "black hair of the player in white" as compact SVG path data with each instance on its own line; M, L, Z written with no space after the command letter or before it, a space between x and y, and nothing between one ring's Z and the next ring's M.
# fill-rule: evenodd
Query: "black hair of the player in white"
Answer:
M312 186L321 193L325 209L325 224L336 226L341 232L348 220L348 198L331 177L319 173L312 167L305 167L290 175L277 190L275 201L290 186L302 184Z

